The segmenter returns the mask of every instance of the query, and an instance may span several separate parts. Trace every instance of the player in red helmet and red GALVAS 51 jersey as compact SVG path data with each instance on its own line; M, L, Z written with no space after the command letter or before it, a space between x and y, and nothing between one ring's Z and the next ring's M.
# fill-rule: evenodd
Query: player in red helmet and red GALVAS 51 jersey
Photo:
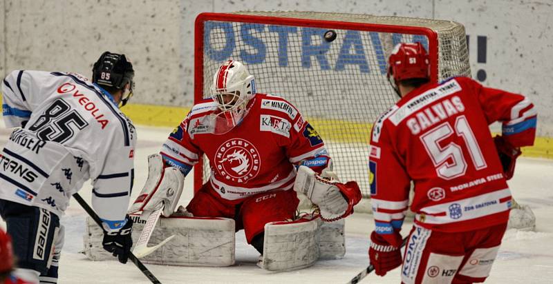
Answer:
M506 179L520 147L534 143L534 105L466 77L430 82L420 43L397 45L388 63L401 99L373 125L371 263L380 276L402 264L403 283L483 282L509 219ZM492 139L495 121L503 133ZM411 181L415 224L402 260Z

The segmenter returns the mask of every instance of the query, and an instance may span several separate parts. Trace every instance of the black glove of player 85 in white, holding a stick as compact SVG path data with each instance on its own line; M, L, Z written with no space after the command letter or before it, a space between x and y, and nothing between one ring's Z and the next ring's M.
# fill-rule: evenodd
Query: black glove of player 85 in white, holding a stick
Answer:
M126 263L129 258L129 252L133 246L131 232L133 231L133 221L129 215L126 215L126 223L118 232L104 231L104 240L102 246L104 250L111 252L113 256L118 256L120 263Z

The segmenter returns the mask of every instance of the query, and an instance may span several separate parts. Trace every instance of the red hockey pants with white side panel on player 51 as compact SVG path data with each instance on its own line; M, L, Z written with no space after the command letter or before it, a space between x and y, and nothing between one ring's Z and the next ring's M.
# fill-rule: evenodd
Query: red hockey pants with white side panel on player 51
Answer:
M402 283L484 282L507 223L469 232L436 232L413 225L403 257Z

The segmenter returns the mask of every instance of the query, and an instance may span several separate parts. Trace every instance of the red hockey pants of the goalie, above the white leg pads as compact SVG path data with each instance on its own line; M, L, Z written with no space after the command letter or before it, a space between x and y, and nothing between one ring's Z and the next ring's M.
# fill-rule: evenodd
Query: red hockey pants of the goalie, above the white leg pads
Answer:
M194 195L187 211L196 217L234 219L236 231L244 229L247 243L263 232L265 224L293 219L299 199L294 190L255 194L239 201L221 198L211 184L205 183Z

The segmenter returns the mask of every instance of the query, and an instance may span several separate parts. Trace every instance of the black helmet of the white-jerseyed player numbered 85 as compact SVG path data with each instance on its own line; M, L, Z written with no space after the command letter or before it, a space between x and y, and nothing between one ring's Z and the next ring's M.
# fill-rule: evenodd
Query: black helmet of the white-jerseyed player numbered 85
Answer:
M101 86L108 86L121 90L129 83L130 92L125 92L121 97L121 105L125 105L133 95L133 64L126 60L125 54L117 54L106 51L92 68L92 82Z

